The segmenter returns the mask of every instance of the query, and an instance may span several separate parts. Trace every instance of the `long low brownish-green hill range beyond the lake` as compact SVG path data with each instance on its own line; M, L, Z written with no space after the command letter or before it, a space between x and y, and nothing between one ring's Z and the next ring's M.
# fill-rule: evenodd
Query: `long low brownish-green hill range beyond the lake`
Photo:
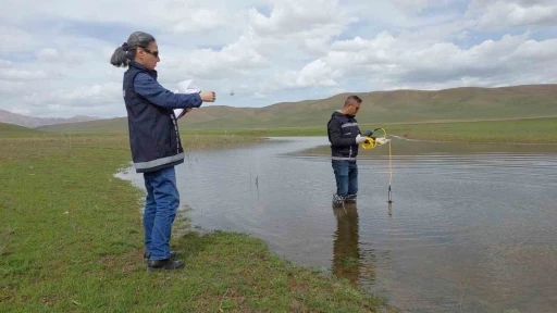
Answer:
M189 112L181 129L322 126L348 95L276 103L264 108L207 107ZM557 84L502 88L355 92L362 98L361 124L487 121L557 116ZM126 117L40 127L50 132L127 130Z

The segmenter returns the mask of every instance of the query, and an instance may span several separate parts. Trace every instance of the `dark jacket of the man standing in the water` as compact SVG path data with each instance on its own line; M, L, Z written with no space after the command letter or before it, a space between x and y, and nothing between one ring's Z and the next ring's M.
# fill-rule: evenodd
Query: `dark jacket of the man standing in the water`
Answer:
M358 156L356 136L360 134L360 128L355 116L335 111L331 115L326 128L332 159L356 161L356 156Z

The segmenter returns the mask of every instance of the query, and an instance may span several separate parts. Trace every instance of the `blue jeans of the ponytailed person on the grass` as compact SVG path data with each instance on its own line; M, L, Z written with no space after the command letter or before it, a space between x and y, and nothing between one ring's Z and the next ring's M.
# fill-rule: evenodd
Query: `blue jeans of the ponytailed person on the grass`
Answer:
M144 173L147 197L145 199L145 248L150 260L170 258L172 223L180 205L174 166Z

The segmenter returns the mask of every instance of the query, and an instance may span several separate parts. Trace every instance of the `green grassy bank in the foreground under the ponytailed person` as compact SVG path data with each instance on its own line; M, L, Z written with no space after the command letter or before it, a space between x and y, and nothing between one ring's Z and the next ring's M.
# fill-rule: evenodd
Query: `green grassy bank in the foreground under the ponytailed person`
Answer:
M188 150L259 140L183 139ZM2 312L370 312L386 305L346 280L294 266L261 240L200 235L187 220L176 222L171 242L186 267L148 274L143 192L113 177L128 166L126 136L2 136L0 145Z

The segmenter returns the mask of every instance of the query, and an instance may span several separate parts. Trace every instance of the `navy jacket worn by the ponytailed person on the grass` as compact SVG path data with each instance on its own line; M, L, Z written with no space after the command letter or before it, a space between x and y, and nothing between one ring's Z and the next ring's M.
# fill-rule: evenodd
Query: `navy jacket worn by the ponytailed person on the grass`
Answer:
M173 93L157 82L157 71L132 61L124 73L129 148L137 173L184 162L184 148L173 109L199 108L199 93Z

